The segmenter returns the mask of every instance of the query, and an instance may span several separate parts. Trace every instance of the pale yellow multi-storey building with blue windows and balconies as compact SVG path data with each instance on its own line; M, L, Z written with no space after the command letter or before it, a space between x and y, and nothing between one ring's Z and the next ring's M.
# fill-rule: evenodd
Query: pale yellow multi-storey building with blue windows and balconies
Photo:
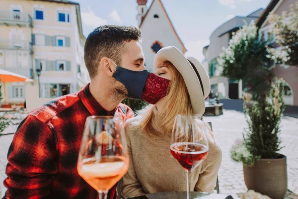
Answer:
M0 69L32 78L30 89L39 89L41 98L78 91L85 41L79 4L68 0L9 0L1 5ZM6 102L24 102L23 84L6 83L5 90Z

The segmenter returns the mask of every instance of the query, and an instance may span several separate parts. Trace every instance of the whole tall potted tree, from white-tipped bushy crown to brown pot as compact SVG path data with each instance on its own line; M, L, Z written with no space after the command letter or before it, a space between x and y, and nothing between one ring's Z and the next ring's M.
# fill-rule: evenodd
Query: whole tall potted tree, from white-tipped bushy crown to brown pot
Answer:
M217 60L222 75L230 81L242 80L249 94L249 98L243 98L248 129L243 141L232 147L231 157L243 163L249 190L282 199L287 191L286 157L278 153L279 125L285 109L284 81L273 84L275 64L267 47L252 21L232 33Z

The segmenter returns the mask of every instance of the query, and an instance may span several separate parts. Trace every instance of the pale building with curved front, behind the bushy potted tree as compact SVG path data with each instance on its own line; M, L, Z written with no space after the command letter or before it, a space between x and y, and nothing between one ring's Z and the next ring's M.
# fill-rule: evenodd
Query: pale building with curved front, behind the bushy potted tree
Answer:
M226 21L213 31L210 36L210 44L203 48L203 54L209 63L209 76L211 82L211 96L218 96L220 99L239 99L242 93L242 82L230 82L221 76L221 69L218 67L217 58L228 46L232 32L237 31L245 22L256 21L264 9L258 9L247 16L235 16Z

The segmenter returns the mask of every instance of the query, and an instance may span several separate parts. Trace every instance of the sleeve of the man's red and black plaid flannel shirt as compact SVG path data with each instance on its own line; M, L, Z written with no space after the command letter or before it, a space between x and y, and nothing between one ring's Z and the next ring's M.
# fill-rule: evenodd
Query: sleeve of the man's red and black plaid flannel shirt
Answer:
M20 123L7 154L3 199L48 198L51 176L57 173L55 143L47 123L35 116Z

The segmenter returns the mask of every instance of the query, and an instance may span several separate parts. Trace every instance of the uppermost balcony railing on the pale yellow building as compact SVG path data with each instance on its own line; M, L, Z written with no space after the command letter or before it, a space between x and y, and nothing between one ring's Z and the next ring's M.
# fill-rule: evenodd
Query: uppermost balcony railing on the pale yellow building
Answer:
M32 18L26 12L0 10L0 23L9 25L11 22L17 25L31 24Z

